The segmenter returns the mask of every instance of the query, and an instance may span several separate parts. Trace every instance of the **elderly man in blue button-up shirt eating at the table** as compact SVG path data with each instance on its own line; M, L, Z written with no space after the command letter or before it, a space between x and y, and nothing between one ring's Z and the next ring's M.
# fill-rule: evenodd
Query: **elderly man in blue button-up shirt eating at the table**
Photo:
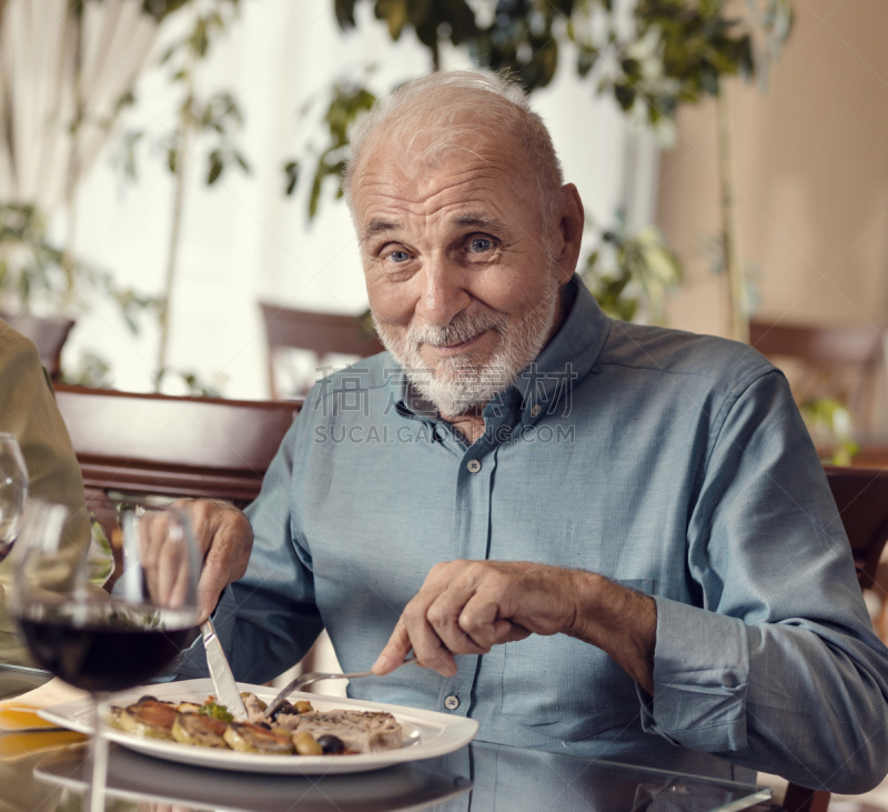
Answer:
M387 674L352 695L488 741L877 783L887 652L780 372L602 313L577 191L497 79L401 88L345 181L389 352L315 387L251 527L194 509L208 611L254 535L216 611L236 675L324 625ZM411 649L426 668L393 671Z

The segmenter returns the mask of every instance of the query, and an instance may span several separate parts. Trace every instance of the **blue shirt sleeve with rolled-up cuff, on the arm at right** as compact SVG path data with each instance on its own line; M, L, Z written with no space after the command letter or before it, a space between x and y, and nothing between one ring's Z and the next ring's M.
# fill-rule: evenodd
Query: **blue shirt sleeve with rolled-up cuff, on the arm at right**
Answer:
M888 771L888 650L784 377L728 398L689 512L697 605L657 599L643 724L797 783L862 792Z

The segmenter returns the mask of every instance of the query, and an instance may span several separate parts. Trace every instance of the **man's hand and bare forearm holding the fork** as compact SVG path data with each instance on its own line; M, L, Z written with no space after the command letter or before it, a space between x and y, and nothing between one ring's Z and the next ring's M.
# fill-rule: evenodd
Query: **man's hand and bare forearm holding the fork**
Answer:
M413 649L423 665L456 673L454 654L486 654L529 634L569 634L607 652L654 688L656 604L601 575L527 561L436 564L373 665L387 674Z

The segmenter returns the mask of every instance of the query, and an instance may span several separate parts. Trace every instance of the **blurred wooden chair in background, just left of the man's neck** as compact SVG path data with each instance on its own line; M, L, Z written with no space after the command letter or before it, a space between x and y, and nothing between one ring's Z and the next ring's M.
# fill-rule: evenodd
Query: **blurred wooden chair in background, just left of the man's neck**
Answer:
M367 329L356 317L292 310L264 302L260 302L259 307L262 308L269 340L269 381L272 398L293 394L282 391L275 374L275 363L285 350L310 350L317 355L320 362L331 353L354 355L360 359L375 355L384 349L376 333Z

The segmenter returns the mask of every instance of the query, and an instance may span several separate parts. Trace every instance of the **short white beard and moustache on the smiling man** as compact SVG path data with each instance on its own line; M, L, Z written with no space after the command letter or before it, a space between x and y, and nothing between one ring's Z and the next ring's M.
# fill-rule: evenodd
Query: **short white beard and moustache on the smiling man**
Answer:
M414 319L404 335L393 325L379 321L375 314L373 322L385 349L420 394L434 403L443 415L458 417L508 389L543 350L558 307L558 280L552 271L546 272L551 283L539 301L514 323L506 314L486 307L472 314L458 313L447 327L422 324ZM485 330L500 334L500 345L486 363L456 355L440 359L431 369L425 365L422 344L458 344Z

